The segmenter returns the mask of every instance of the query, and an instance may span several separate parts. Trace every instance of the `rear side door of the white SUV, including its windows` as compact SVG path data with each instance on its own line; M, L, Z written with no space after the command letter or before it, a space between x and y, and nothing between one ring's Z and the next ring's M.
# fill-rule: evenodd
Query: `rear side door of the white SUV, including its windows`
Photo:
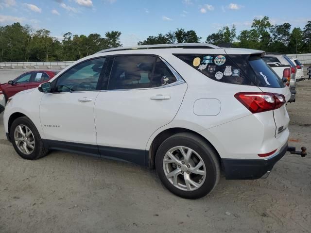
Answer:
M94 108L102 157L145 163L148 139L173 120L187 90L167 65L147 55L110 59Z

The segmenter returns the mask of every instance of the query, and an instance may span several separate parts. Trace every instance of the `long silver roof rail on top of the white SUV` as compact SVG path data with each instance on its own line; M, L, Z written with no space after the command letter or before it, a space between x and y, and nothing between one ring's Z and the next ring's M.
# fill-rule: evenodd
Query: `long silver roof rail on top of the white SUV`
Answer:
M221 49L220 47L207 43L179 43L179 44L162 44L162 45L138 45L138 46L129 46L129 47L119 47L111 48L107 50L101 50L96 53L110 52L110 51L121 51L121 50L148 50L148 49L172 49L172 48L181 48L181 49Z

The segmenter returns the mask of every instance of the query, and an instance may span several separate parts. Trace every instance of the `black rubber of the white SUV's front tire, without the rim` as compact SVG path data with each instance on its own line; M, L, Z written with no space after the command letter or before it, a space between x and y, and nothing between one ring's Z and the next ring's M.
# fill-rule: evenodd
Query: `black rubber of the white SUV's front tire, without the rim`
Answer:
M25 154L17 148L16 142L14 140L14 131L18 125L27 126L34 135L35 149L33 150L31 154ZM10 129L10 137L11 137L11 141L12 141L14 149L23 159L28 159L28 160L39 159L39 158L44 157L49 152L49 150L44 147L43 141L41 139L41 136L37 128L35 127L35 124L27 116L18 117L17 119L13 121L11 125L11 129Z

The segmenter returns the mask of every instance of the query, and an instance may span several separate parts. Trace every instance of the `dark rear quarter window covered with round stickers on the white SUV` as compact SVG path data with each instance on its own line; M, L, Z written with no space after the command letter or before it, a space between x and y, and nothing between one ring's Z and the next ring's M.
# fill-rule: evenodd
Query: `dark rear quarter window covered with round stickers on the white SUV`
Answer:
M252 85L240 67L228 55L219 54L174 54L208 78L222 82Z

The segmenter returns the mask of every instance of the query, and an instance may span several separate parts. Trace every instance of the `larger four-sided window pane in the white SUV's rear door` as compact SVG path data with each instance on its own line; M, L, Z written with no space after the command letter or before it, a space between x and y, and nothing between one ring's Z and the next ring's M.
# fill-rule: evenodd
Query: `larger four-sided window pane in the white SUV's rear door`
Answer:
M149 88L155 57L116 56L110 74L108 90Z

